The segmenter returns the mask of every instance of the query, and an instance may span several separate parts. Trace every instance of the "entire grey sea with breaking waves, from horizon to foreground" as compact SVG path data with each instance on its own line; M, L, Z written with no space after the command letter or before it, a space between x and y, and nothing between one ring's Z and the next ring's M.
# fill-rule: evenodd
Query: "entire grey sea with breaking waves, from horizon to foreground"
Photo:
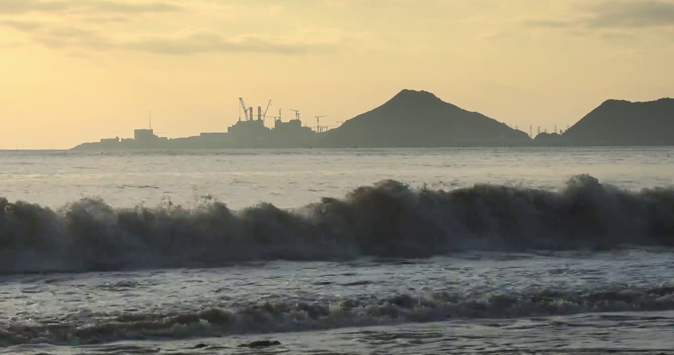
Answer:
M0 151L1 354L674 354L674 148Z

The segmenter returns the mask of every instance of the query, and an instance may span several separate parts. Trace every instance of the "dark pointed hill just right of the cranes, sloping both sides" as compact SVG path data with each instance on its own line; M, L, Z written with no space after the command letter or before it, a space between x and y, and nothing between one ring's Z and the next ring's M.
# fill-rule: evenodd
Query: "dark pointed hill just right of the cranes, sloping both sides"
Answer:
M528 145L528 134L428 91L402 90L385 104L322 134L321 147Z

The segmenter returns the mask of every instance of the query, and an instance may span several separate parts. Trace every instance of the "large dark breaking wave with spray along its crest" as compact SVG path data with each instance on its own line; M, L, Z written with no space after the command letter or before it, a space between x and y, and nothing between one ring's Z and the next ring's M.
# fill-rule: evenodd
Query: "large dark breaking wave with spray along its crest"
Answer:
M53 210L0 198L3 274L621 245L674 245L673 188L633 192L590 175L558 191L443 191L385 180L294 210L231 210L216 200L115 208L94 198Z

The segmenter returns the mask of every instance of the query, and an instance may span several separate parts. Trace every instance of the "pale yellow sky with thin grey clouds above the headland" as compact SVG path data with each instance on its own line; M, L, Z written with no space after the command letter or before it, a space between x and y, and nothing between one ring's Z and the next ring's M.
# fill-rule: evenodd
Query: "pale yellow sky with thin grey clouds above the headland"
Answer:
M674 0L0 0L0 141L226 132L239 97L335 126L402 89L551 131L674 97L672 38Z

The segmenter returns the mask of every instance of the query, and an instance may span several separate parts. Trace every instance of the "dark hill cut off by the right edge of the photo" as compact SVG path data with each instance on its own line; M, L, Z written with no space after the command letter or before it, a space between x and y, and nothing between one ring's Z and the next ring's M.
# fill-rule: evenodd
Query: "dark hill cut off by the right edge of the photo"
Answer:
M674 99L607 100L562 137L574 145L674 145Z

